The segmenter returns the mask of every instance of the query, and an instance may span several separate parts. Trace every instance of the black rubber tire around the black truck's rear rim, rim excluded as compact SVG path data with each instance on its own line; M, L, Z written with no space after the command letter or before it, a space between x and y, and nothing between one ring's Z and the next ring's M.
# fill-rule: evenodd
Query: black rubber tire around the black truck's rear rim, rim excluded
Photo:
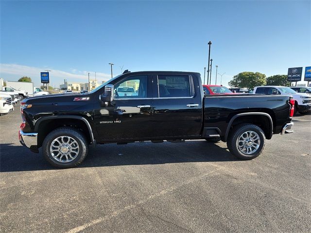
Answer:
M243 133L253 131L258 134L259 140L256 142L259 144L258 149L250 154L243 153L239 147L238 147L238 140L242 136ZM246 134L244 134L246 135ZM265 146L265 135L263 131L260 129L259 126L254 125L254 124L239 124L236 125L228 135L228 140L227 140L227 147L229 151L236 157L243 159L243 160L251 160L259 156L261 151L263 150ZM243 145L243 144L242 144ZM248 150L248 149L247 149Z

